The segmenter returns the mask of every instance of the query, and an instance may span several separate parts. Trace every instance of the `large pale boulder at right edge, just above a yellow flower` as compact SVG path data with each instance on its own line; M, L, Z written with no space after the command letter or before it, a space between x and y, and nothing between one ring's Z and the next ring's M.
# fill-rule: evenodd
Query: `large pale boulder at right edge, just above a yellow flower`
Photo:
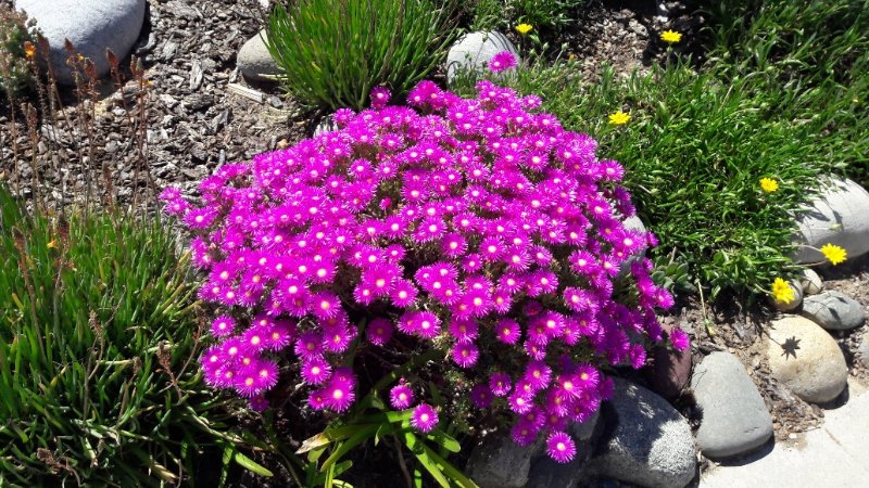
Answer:
M797 217L797 262L823 262L817 251L835 244L847 251L848 259L869 252L869 192L852 180L833 180L817 200ZM814 248L813 248L814 247Z

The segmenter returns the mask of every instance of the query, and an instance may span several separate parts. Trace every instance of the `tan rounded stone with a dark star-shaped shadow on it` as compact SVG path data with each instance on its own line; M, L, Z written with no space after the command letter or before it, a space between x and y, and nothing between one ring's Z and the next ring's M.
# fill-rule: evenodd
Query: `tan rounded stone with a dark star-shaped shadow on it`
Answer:
M770 372L794 395L822 403L845 389L845 356L820 325L804 317L788 316L772 321L768 329Z

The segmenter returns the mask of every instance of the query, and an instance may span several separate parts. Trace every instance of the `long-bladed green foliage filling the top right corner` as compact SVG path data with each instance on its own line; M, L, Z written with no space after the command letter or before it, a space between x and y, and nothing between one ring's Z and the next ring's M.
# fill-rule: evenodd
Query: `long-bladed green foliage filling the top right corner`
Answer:
M816 152L869 184L869 1L718 0L707 16L708 67L827 134Z

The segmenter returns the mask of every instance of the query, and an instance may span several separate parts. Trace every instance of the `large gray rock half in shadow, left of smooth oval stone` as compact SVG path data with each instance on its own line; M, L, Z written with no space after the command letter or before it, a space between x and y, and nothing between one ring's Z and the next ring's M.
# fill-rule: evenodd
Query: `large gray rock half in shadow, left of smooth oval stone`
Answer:
M599 474L650 488L683 487L694 477L691 427L666 400L616 378L603 415L608 433L591 460Z

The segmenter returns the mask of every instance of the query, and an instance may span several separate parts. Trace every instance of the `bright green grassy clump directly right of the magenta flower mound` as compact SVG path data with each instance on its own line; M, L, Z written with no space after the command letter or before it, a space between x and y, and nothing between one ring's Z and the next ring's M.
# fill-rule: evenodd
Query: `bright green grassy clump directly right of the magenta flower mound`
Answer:
M764 293L792 266L791 216L830 170L817 150L828 136L772 116L745 79L723 84L678 65L626 77L607 68L592 84L579 73L571 63L532 65L512 84L627 167L626 187L662 243L653 259L671 256L693 273L677 266L675 282L700 280L713 297ZM627 125L608 124L617 110L631 115ZM763 192L763 177L779 191Z

